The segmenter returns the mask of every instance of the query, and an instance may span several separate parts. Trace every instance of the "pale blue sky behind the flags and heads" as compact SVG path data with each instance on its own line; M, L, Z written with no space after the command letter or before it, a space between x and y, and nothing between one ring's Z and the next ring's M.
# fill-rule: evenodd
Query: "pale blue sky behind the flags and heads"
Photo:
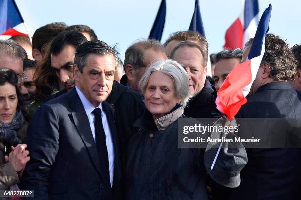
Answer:
M118 44L124 58L128 46L149 36L161 0L15 0L32 35L51 22L85 24L99 40ZM240 15L242 0L199 0L209 53L222 50L228 27ZM187 30L195 0L166 0L161 42L176 31ZM301 43L301 3L298 0L259 0L260 14L273 5L270 32L290 45Z

